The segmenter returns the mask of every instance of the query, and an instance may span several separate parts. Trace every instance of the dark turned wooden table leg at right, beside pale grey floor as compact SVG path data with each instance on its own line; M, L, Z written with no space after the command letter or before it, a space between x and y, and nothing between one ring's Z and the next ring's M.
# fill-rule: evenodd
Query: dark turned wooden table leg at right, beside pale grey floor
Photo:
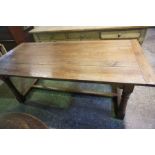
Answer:
M130 97L130 94L133 92L134 85L124 85L123 92L121 95L120 103L118 104L116 116L119 119L124 119L127 102Z

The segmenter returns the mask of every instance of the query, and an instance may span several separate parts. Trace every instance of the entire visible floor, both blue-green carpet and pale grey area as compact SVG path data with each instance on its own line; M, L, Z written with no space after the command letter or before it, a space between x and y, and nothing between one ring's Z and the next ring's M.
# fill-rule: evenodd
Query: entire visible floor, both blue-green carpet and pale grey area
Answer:
M155 29L148 30L143 49L155 69ZM58 81L40 81L40 83L45 85L63 84ZM68 86L102 92L111 91L108 85L75 84L72 82L64 85L64 87ZM19 104L9 89L1 84L0 113L6 112L32 114L45 122L49 128L58 129L155 128L155 88L135 87L128 102L126 116L122 121L113 117L111 99L33 90L24 105Z

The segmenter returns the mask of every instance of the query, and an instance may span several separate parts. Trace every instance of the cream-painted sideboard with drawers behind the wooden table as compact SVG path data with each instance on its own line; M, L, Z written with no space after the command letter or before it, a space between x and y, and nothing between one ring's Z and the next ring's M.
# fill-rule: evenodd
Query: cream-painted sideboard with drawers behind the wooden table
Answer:
M142 44L147 27L105 27L105 26L39 26L30 31L36 42L61 40L106 40L138 39Z

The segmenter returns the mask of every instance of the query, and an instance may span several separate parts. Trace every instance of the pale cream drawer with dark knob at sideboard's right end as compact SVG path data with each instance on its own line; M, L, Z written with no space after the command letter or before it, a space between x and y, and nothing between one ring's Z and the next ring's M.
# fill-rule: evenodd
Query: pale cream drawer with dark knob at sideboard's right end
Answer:
M139 31L109 31L101 32L101 39L132 39L139 38Z

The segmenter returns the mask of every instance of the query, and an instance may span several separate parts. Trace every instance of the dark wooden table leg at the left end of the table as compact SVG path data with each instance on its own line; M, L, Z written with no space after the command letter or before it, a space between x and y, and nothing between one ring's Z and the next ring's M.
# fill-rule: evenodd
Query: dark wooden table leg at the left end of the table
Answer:
M19 102L23 103L25 101L25 97L17 90L9 77L1 76L0 79L3 80L4 83L11 89L12 93Z

